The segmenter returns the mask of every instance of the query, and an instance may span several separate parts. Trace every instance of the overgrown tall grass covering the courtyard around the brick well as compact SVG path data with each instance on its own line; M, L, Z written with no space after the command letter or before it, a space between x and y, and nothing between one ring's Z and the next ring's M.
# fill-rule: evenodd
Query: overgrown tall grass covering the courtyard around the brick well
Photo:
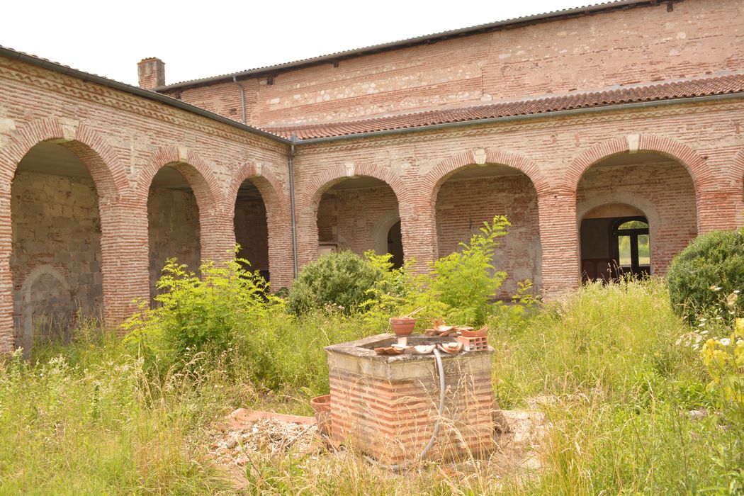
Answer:
M539 409L540 471L493 460L402 474L346 452L253 454L253 494L665 494L742 492L743 419L708 392L690 331L661 280L589 285L490 320L502 408ZM0 492L237 492L205 455L205 430L237 407L310 413L326 393L328 344L385 330L380 318L267 312L233 346L185 367L146 367L94 332L0 364ZM179 370L176 372L175 370ZM689 411L705 408L693 420Z

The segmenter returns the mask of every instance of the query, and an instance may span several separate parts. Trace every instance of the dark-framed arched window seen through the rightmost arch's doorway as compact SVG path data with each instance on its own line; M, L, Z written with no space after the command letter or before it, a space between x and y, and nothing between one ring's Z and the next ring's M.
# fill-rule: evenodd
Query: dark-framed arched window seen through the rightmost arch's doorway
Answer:
M651 273L650 236L646 217L621 217L612 226L616 276Z

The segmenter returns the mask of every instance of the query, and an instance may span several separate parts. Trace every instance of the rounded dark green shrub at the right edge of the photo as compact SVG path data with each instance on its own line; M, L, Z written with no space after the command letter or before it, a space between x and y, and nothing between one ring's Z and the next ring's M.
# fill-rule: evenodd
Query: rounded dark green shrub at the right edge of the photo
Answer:
M690 323L720 308L723 295L744 289L742 234L713 231L698 236L672 260L667 281L674 309ZM725 312L722 317L730 320L731 315Z

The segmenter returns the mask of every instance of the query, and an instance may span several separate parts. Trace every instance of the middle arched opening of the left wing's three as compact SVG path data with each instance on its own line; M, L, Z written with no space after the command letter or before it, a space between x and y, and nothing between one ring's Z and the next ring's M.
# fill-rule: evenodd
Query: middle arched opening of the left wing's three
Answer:
M151 300L158 294L155 283L167 259L175 257L190 271L198 270L201 260L199 207L190 184L177 167L190 166L161 167L153 177L147 196Z

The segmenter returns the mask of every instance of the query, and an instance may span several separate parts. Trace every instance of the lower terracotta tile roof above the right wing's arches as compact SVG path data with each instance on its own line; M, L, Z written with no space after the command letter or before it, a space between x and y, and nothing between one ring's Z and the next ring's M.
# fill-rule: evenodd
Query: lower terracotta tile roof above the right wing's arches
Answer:
M617 87L601 91L576 92L556 97L490 103L458 109L438 109L410 114L373 117L347 122L304 124L296 126L265 126L268 132L300 139L356 135L364 132L409 129L436 124L477 121L495 117L515 117L571 109L703 97L744 91L744 74L681 80L646 86Z

